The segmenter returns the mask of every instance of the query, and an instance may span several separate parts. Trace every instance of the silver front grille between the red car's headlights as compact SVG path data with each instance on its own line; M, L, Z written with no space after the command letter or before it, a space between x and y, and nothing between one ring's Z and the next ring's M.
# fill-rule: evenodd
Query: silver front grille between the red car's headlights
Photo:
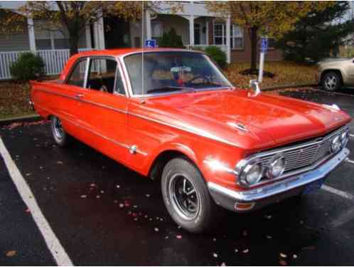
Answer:
M267 167L272 157L282 152L285 156L285 173L295 169L309 167L312 164L321 162L321 160L328 157L330 153L330 146L333 138L338 134L344 132L347 127L341 127L338 130L319 137L316 140L307 142L299 142L296 145L289 147L282 147L280 149L262 152L260 157L264 167Z

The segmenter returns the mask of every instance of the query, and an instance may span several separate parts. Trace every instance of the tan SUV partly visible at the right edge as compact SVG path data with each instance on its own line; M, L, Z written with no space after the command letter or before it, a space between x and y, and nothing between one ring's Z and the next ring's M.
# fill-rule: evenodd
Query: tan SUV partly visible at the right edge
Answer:
M327 91L354 86L354 58L328 58L318 63L318 82Z

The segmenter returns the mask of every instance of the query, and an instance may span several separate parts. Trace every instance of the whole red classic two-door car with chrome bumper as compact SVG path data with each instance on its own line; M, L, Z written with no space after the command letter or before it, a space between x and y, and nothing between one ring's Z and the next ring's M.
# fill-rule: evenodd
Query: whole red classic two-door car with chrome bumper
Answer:
M75 137L159 181L188 231L219 206L252 211L319 188L349 154L338 107L238 90L198 51L79 53L58 80L31 84L58 145Z

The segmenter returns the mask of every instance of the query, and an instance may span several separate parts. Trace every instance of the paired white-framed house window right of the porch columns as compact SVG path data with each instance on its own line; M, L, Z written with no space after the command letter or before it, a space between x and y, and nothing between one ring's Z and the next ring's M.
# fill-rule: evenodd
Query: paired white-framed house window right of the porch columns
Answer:
M232 49L243 49L244 31L243 28L232 24L230 26L230 46ZM214 23L214 44L226 45L226 26L225 23Z

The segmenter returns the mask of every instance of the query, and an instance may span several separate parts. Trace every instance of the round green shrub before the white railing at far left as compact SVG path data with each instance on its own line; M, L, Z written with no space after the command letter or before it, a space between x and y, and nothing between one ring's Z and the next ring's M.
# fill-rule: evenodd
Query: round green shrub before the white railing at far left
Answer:
M10 66L11 76L16 80L33 80L44 75L44 62L33 53L21 53L17 61Z

